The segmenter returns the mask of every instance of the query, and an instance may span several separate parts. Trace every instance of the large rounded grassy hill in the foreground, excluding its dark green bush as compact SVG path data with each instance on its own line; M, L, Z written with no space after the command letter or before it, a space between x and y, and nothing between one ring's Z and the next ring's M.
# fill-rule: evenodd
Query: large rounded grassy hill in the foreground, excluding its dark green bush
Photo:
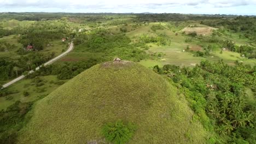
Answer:
M205 143L183 95L133 62L95 65L37 101L18 143L101 143L104 124L136 125L129 143Z

